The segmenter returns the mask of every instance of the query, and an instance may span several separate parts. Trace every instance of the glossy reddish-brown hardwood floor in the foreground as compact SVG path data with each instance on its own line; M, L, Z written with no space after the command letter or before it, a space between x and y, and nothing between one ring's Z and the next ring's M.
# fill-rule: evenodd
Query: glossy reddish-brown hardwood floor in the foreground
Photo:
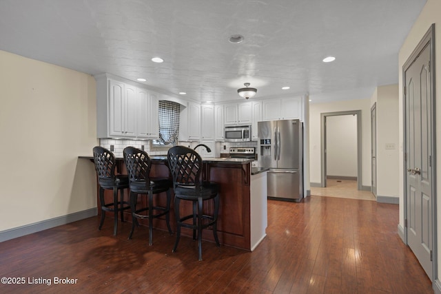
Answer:
M398 205L311 196L268 202L267 237L252 253L146 227L127 240L99 218L0 243L0 293L433 293L431 282L397 234ZM54 277L77 279L54 284ZM35 281L28 284L28 278ZM39 278L51 284L37 284Z

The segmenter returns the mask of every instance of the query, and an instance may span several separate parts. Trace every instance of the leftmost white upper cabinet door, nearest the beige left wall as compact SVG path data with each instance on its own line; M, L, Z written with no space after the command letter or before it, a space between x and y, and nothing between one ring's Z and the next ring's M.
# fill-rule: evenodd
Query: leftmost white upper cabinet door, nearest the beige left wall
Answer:
M124 132L124 83L109 80L109 121L110 136L123 136Z

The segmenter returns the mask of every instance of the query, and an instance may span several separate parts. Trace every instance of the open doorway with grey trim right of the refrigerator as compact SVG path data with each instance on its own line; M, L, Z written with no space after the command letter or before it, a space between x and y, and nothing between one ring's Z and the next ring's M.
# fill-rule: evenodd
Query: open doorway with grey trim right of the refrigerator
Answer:
M333 118L336 116L352 116L356 120L356 152L353 152L353 160L356 160L356 162L353 162L351 158L348 162L342 162L342 159L345 157L340 156L332 156L332 154L329 154L328 151L334 152L334 149L340 148L340 150L337 150L338 154L347 154L345 152L345 147L350 147L348 142L346 145L336 145L336 140L328 140L328 137L330 139L334 134L328 132L328 125L329 123L336 123L335 125L338 125L338 121L334 121ZM340 120L340 123L344 122L345 120ZM322 113L321 114L321 187L327 187L327 178L336 178L336 176L340 176L340 178L345 178L345 175L333 175L332 173L342 173L342 172L348 172L350 173L356 173L356 182L357 182L357 189L362 190L362 160L361 160L361 110L352 110L347 112L328 112L328 113ZM331 125L329 125L331 127ZM353 126L352 126L353 127ZM335 131L335 130L333 130ZM338 130L337 130L338 131ZM340 132L345 132L340 129ZM335 138L333 138L335 139ZM338 140L338 138L337 138ZM354 150L352 150L354 151ZM352 162L350 162L352 161ZM346 171L342 171L340 167L346 167ZM339 170L340 169L340 170ZM353 171L350 171L353 169ZM353 176L347 176L348 178L353 178Z

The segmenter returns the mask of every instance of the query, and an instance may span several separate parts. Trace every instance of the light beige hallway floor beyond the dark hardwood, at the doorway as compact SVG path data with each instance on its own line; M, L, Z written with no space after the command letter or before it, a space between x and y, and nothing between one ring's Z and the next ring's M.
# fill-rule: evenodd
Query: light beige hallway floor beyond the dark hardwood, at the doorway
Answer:
M376 201L371 191L358 191L356 180L327 179L327 187L311 187L311 195Z

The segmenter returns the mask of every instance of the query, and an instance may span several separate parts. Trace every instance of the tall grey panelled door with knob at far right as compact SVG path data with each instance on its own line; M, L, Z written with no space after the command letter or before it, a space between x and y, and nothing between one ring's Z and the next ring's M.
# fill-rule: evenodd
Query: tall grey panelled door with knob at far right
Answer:
M427 45L405 70L407 151L407 244L424 271L433 278L431 79Z

